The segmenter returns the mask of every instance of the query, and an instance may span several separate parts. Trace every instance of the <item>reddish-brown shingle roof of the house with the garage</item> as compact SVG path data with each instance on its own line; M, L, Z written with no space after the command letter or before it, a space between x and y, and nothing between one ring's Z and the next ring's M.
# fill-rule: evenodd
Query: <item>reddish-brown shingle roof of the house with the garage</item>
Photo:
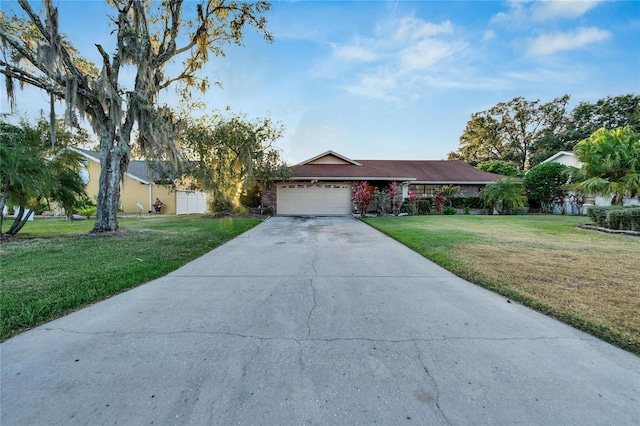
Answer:
M356 160L352 164L302 164L293 166L295 180L383 180L416 183L489 183L504 176L482 172L464 161Z

